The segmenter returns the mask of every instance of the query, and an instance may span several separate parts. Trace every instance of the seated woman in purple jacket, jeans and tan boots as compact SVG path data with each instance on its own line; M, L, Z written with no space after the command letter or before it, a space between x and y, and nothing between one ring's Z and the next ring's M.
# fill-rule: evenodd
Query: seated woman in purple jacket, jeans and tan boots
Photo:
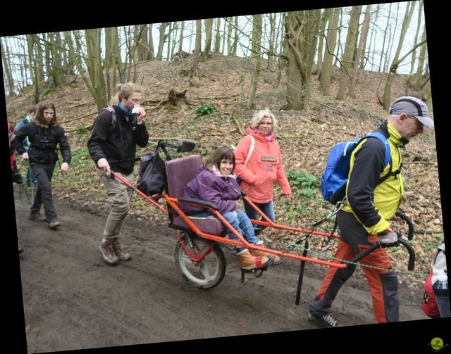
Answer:
M209 201L218 206L218 212L233 226L237 232L242 234L243 238L249 244L261 246L263 241L257 239L254 233L254 227L249 217L240 209L238 209L238 199L241 197L241 189L236 180L230 177L235 167L235 154L233 150L227 146L221 146L214 151L213 155L201 167L199 175L190 181L181 197L195 198L202 201ZM209 216L204 208L197 206L189 206L180 203L185 213L196 216ZM240 241L233 232L228 230L230 239ZM241 262L242 271L252 272L267 265L280 263L278 255L270 255L263 251L250 251L240 246L235 247L237 256ZM277 258L277 259L276 259Z

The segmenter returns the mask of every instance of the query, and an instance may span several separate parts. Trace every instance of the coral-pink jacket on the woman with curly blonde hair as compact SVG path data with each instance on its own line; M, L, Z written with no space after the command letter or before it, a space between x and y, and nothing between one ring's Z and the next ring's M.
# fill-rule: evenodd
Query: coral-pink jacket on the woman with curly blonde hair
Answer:
M291 194L276 134L267 140L264 134L255 132L251 127L247 128L247 134L254 137L255 147L246 166L245 160L251 146L250 137L242 138L235 150L235 174L241 179L241 189L254 203L268 203L273 200L275 182L284 194Z

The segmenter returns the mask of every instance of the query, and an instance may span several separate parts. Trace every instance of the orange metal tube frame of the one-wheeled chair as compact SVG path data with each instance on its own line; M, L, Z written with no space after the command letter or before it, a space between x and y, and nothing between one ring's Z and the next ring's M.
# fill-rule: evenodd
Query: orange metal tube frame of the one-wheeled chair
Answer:
M237 232L235 230L235 228L230 225L228 223L228 221L226 219L224 219L224 217L218 213L218 211L212 209L212 208L206 208L208 209L212 215L216 216L218 218L218 220L221 220L221 222L223 223L223 225L225 225L228 229L230 229L231 232L233 232L233 234L235 234L235 236L237 236L237 238L240 241L234 241L231 239L227 239L225 237L221 237L221 236L217 236L217 235L213 235L213 234L207 234L206 232L202 232L199 227L197 227L194 222L192 222L190 220L190 217L188 215L186 215L185 213L183 213L183 210L180 209L180 207L178 206L178 203L182 203L178 201L178 198L172 198L171 196L168 196L167 194L160 194L158 196L154 196L154 197L149 197L146 196L146 194L142 193L142 191L140 191L139 189L135 188L132 184L130 184L129 182L125 181L125 179L123 179L123 177L121 177L120 175L113 175L115 178L117 178L119 181L121 181L123 184L125 184L127 187L133 189L133 191L136 191L137 194L140 194L140 196L142 196L143 198L145 198L147 201L149 201L149 203L152 203L153 206L155 206L156 208L159 208L159 210L161 210L163 213L165 213L166 215L169 215L168 210L166 210L165 208L163 208L163 206L161 206L158 201L160 198L165 198L166 202L168 203L169 206L171 206L171 208L173 208L173 210L175 210L175 212L183 218L183 220L187 223L187 225L190 227L190 229L192 229L192 232L194 232L195 234L197 234L198 236L204 238L204 239L209 239L211 241L216 241L216 242L222 242L223 244L230 244L230 245L234 245L234 246L241 246L243 248L249 248L249 249L254 249L254 250L259 250L259 251L265 251L271 254L276 254L276 255L281 255L283 257L288 257L288 258L293 258L296 260L301 260L301 261L307 261L307 262L311 262L311 263L317 263L320 265L326 265L328 267L335 267L335 268L346 268L347 265L345 263L333 263L333 262L329 262L327 260L319 260L316 258L311 258L311 257L307 257L307 256L303 256L303 255L297 255L295 253L289 253L286 251L276 251L273 250L271 248L265 248L265 247L260 247L260 246L256 246L254 244L249 244L242 236L239 232ZM326 233L326 232L314 232L308 229L302 229L299 227L290 227L290 226L285 226L285 225L279 225L276 224L275 222L271 221L264 213L261 212L261 210L259 208L257 208L257 206L255 206L254 203L252 203L252 201L249 201L249 198L247 198L247 196L243 197L245 199L245 201L247 201L247 203L249 203L249 205L252 206L252 208L254 208L255 210L257 210L257 213L259 213L259 215L261 215L261 217L265 220L251 220L251 222L253 224L257 224L257 225L263 225L266 227L272 227L274 229L283 229L283 230L289 230L289 231L295 231L295 232L302 232L302 233L311 233L311 234L315 234L315 235L319 235L319 236L330 236L330 234ZM187 203L187 202L183 202L183 203ZM190 204L192 206L198 206L195 203L187 203ZM204 206L203 206L204 207ZM204 207L205 208L205 207ZM338 234L333 234L332 235L335 238L339 238L340 235ZM199 259L193 259L194 262L199 262Z

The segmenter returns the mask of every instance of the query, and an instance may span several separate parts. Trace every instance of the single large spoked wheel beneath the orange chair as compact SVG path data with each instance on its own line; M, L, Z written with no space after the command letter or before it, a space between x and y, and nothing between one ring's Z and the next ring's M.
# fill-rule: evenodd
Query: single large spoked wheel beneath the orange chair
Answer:
M193 261L185 251L194 256L207 253L199 262ZM199 236L180 233L180 241L175 246L175 265L185 279L192 286L199 289L211 289L220 284L226 275L226 257L221 246Z

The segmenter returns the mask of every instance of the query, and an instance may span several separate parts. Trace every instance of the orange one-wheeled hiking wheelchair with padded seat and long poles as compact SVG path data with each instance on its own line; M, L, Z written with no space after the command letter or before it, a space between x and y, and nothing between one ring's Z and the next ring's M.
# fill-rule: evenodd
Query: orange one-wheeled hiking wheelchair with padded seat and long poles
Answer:
M191 143L192 144L192 143ZM297 244L304 242L302 255L296 253L290 253L286 250L278 251L271 248L264 248L261 246L256 246L254 244L249 244L242 237L242 235L237 232L236 229L230 225L223 216L218 213L218 208L214 203L208 201L201 201L197 199L180 198L183 189L186 184L190 182L194 177L196 177L199 172L199 167L202 165L202 159L199 155L190 155L183 158L172 159L171 155L167 151L167 147L177 147L178 152L190 151L194 148L194 144L188 144L188 147L184 147L183 142L179 142L177 146L165 143L164 141L159 141L155 150L158 153L159 150L163 151L166 155L166 185L164 191L156 196L147 196L142 193L139 189L129 184L119 175L115 175L117 179L126 184L128 187L132 188L142 197L147 199L156 208L159 208L163 213L168 216L169 227L178 230L177 234L177 244L175 245L175 265L178 268L183 279L185 279L189 284L195 286L199 289L211 289L221 283L226 274L226 257L223 253L223 249L220 245L228 245L229 247L241 246L243 248L249 248L266 251L271 254L280 255L282 257L292 258L299 260L301 263L299 270L299 281L297 286L297 298L296 304L299 304L299 297L302 287L302 279L304 274L304 266L307 262L316 263L319 265L326 265L327 267L345 268L348 267L347 263L342 263L339 261L328 261L321 260L318 258L311 258L307 256L309 248L309 236L326 236L330 239L340 238L339 234L334 232L316 232L314 230L302 229L299 227L290 227L285 225L279 225L264 215L264 213L257 208L257 206L250 201L245 194L242 194L242 198L249 203L257 213L261 215L261 220L251 220L254 225L259 225L260 227L282 229L290 232L299 232L302 234L307 234L307 236L302 237L297 241ZM164 198L166 200L167 209L164 208L158 201ZM180 203L188 203L193 206L201 206L205 210L209 210L211 216L209 217L198 217L192 215L186 215L183 210L180 209ZM413 224L409 223L408 218L404 215L400 215L402 218L408 222L409 226L409 239L413 237ZM226 230L229 229L240 241L233 241L227 237ZM407 241L399 239L400 244L407 248L409 251L409 270L413 270L415 254L412 246L409 245ZM350 263L357 263L359 260L364 258L366 255L374 251L376 248L383 245L375 244L370 246L364 253L360 253L354 259L350 260ZM265 270L265 269L264 269ZM257 271L261 275L263 270ZM245 280L245 272L242 272L241 281Z

